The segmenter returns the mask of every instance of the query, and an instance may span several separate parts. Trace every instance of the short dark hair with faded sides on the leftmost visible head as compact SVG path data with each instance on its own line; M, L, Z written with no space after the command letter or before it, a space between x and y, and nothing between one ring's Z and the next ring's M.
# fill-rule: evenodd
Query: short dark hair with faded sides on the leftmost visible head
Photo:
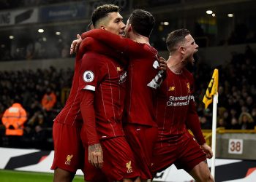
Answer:
M119 12L119 7L114 4L104 4L102 6L97 7L94 9L94 12L92 12L91 15L91 22L96 27L99 20L102 20L102 18L107 17L108 13L110 12Z

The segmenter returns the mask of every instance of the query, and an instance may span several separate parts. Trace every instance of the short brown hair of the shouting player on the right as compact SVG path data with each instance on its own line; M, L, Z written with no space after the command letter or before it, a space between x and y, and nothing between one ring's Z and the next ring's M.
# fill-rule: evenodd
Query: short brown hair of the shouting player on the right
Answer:
M189 34L190 34L190 31L185 28L181 28L169 33L166 39L166 46L169 52L175 51L177 49L178 43L184 41L185 36Z

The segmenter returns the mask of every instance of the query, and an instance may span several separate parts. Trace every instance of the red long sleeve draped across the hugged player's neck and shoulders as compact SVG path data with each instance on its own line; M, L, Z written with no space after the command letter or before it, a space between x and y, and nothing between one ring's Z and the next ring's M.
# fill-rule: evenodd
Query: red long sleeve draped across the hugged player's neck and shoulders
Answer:
M82 39L92 37L102 41L104 44L112 47L117 52L123 52L124 55L140 54L141 52L141 46L139 43L132 41L131 39L122 38L114 33L110 33L110 31L94 29L83 33L81 36Z

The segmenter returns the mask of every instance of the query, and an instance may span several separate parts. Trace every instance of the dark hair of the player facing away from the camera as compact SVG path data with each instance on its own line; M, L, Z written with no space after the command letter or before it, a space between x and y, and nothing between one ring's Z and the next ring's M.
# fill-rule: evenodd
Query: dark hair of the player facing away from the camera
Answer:
M154 16L143 9L135 9L129 16L133 31L146 37L151 35L155 22Z

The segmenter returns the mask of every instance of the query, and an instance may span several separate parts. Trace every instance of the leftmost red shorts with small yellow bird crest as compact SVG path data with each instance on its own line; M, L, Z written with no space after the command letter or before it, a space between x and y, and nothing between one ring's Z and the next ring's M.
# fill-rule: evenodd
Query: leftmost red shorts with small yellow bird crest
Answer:
M51 170L59 167L75 173L83 168L84 149L80 129L68 124L53 123L54 159Z

